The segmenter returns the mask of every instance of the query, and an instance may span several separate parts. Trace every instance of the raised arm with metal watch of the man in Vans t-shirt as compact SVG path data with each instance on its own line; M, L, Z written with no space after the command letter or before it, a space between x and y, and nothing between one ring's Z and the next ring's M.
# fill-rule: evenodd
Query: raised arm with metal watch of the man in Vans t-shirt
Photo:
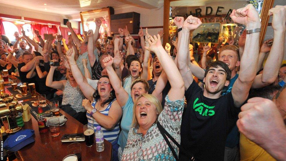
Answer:
M231 18L235 23L244 24L246 30L260 28L260 18L252 4L233 10ZM259 56L259 32L246 35L244 52L241 57L239 76L231 90L234 104L240 107L247 99L249 89L256 76Z

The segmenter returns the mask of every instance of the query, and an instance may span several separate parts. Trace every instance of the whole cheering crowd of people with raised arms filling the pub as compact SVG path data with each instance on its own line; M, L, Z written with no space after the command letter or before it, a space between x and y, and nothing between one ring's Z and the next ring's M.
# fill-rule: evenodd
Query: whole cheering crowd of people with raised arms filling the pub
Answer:
M233 10L231 19L245 26L238 42L218 46L216 61L205 46L200 65L189 40L202 22L177 16L177 40L165 48L163 33L147 28L139 48L127 28L99 44L99 19L84 39L67 22L68 44L62 35L44 41L37 30L39 43L24 30L12 42L1 35L0 70L35 83L81 123L101 126L113 160L286 160L286 6L268 14L273 40L260 48L256 9Z

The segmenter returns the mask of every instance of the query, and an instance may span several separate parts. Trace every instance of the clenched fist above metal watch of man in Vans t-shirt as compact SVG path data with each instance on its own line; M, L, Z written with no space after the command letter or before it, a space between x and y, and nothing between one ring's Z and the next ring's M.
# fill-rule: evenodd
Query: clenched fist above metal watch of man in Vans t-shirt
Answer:
M261 27L259 14L252 4L237 10L234 9L230 17L235 23L244 24L250 29Z

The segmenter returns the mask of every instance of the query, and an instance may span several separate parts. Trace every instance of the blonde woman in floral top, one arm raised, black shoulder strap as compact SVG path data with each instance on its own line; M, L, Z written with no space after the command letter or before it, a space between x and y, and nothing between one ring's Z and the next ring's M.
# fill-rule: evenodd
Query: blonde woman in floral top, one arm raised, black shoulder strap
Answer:
M161 45L158 34L148 41L171 84L171 89L166 96L166 103L162 111L161 103L150 94L142 94L134 103L133 127L128 133L127 144L123 151L122 160L175 160L173 153L161 135L156 122L178 142L181 142L180 127L184 108L184 82L172 58ZM161 112L162 111L162 112ZM170 142L176 154L179 148Z

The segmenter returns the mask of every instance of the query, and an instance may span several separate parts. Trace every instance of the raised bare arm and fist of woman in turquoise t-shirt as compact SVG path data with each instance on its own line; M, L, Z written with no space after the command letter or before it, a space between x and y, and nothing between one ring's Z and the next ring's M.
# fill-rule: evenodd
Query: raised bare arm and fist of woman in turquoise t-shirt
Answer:
M112 63L113 63L113 57L108 56L103 59L103 63L105 66L105 69L107 71L110 83L115 91L116 99L120 106L125 106L127 100L128 100L128 93L125 91L125 89L122 87L120 79L117 77L115 71L113 70Z

